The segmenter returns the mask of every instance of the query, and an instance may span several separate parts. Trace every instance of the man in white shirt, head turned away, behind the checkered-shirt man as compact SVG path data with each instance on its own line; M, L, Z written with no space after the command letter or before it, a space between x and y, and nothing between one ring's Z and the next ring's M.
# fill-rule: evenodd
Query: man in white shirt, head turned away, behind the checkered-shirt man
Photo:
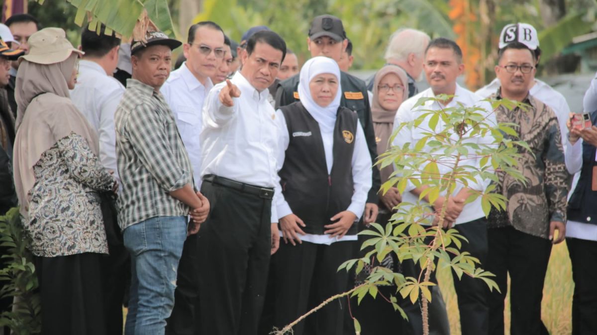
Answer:
M79 62L79 76L70 99L96 129L100 143L100 162L113 171L120 183L116 167L116 131L114 113L124 94L124 86L112 77L118 64L120 39L85 28L81 34L81 50L85 52ZM109 206L111 205L111 206ZM128 252L122 244L122 234L112 201L103 202L104 225L110 256L103 262L104 313L109 334L122 334L122 301L127 273L130 267ZM110 220L112 219L112 220Z

